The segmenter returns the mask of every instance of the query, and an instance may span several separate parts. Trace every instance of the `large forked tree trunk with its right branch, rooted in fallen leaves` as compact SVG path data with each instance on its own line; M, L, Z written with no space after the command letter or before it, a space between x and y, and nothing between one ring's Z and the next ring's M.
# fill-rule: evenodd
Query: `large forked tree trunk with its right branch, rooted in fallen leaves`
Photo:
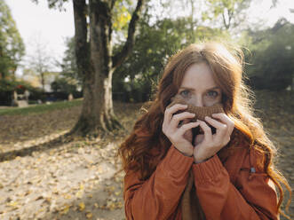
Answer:
M111 10L115 1L89 0L90 43L87 43L85 0L74 0L75 56L78 72L83 75L83 107L71 133L84 136L122 127L115 118L113 108L112 75L115 68L131 53L142 2L138 1L131 17L128 38L123 50L113 56Z

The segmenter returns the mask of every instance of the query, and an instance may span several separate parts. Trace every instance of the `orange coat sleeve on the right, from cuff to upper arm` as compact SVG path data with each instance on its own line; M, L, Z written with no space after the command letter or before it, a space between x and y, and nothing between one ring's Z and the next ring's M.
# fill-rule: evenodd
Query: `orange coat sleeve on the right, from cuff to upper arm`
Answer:
M279 219L275 190L263 168L257 162L251 164L252 157L260 159L256 153L246 154L235 185L217 154L193 165L196 193L207 220Z

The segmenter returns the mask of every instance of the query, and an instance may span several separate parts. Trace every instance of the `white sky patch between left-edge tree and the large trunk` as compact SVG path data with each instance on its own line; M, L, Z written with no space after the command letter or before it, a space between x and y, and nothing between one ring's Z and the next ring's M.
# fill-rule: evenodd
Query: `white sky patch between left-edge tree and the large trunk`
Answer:
M61 61L66 50L65 39L75 35L73 5L64 4L66 12L49 9L47 0L39 4L31 0L4 0L12 12L12 18L26 46L26 54L36 50L34 43L44 44L45 50L55 59ZM58 70L58 68L55 68ZM21 75L21 69L17 71Z

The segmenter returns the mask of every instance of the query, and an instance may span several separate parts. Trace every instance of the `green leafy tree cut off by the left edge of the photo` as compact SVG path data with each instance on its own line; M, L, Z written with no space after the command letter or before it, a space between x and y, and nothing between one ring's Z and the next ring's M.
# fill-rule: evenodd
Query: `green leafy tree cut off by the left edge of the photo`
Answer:
M5 78L14 75L25 46L4 0L0 0L0 27L0 76Z

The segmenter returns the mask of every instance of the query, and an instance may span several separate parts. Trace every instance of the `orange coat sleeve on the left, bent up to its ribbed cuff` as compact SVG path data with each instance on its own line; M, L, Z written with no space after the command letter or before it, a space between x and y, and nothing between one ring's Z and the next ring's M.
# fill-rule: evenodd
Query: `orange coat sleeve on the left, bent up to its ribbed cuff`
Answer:
M187 157L171 145L155 172L146 181L136 172L124 177L123 200L127 219L167 219L176 210L187 185L193 157Z

